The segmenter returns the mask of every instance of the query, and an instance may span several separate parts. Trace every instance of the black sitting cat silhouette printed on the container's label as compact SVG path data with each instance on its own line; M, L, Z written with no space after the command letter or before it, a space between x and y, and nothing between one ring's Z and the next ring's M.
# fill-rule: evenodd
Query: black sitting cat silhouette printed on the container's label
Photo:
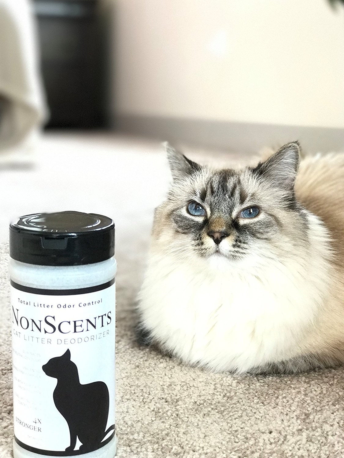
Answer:
M56 409L67 421L70 445L66 452L72 452L77 437L82 445L82 453L92 452L101 447L101 441L112 430L106 431L109 415L109 390L104 382L82 385L79 381L78 367L71 361L69 349L61 356L51 358L42 366L49 377L57 378L53 399Z

